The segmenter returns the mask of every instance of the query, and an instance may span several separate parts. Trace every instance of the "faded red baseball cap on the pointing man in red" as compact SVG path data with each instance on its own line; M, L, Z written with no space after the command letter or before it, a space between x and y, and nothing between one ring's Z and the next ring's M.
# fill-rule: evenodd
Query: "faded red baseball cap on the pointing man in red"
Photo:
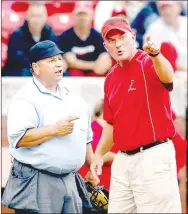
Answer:
M105 39L106 35L111 30L121 30L123 32L132 32L131 26L129 23L122 18L119 17L112 17L109 21L105 22L105 24L102 27L101 34L103 39Z

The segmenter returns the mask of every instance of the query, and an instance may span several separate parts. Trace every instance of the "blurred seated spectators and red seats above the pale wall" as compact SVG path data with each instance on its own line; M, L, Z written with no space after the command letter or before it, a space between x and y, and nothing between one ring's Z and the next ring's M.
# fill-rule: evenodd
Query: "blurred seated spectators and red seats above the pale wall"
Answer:
M138 48L149 34L175 71L187 71L186 1L2 1L2 75L31 76L30 47L50 39L65 53L65 76L105 76L115 62L100 30L111 16L127 18Z

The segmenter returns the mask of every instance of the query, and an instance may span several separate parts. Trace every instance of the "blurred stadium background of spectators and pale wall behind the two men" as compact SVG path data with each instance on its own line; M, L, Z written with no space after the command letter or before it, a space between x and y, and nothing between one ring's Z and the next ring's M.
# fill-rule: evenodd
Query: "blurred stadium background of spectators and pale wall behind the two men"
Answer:
M37 42L54 41L64 52L65 82L86 99L93 112L95 143L102 132L103 83L116 63L103 47L102 24L123 16L136 32L142 49L147 35L162 44L161 52L175 72L171 94L174 124L180 134L180 156L188 139L187 117L187 1L2 1L2 138L3 184L10 168L6 112L12 95L32 76L29 49ZM98 110L96 110L98 109ZM97 121L97 123L96 123ZM181 159L181 157L180 157ZM186 161L181 159L179 179L186 191ZM180 163L179 162L179 163ZM182 196L183 197L183 196ZM184 211L185 203L184 200Z

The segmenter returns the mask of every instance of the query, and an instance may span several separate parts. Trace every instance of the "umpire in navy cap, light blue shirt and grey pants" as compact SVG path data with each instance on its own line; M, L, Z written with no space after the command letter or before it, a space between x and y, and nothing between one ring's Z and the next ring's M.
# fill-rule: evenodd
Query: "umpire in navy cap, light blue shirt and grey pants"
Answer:
M33 79L8 110L13 164L2 203L20 213L82 213L75 172L93 151L86 103L61 79L62 52L46 40L30 49ZM88 172L87 179L96 180Z

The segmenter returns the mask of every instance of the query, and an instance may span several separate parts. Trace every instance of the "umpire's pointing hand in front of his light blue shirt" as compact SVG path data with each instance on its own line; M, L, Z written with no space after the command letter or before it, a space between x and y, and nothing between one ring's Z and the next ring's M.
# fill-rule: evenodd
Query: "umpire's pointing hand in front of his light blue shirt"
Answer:
M65 136L71 134L74 129L74 120L78 120L80 117L67 117L65 119L59 120L53 126L55 135Z

